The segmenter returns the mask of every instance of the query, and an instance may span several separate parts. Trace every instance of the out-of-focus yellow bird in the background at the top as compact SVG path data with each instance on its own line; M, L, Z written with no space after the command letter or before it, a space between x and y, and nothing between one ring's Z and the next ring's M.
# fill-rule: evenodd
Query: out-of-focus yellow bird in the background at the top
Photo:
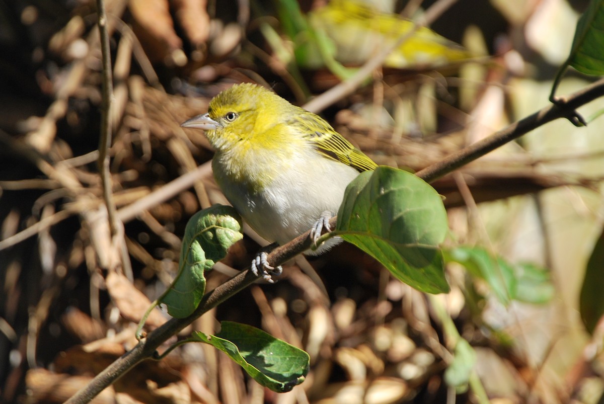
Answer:
M280 15L287 17L284 31L294 43L298 66L316 69L336 66L362 65L376 56L380 49L400 43L384 60L384 66L394 69L437 68L471 59L470 51L427 27L399 14L380 10L374 1L330 0L303 15L297 2L279 2ZM289 18L291 15L296 18ZM335 72L341 71L336 68Z

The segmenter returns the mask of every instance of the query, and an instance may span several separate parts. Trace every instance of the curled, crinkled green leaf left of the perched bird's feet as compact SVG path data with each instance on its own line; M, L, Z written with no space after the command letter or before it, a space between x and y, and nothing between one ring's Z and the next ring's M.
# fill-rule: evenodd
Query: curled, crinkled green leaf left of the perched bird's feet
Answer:
M194 312L205 291L204 272L225 257L228 248L242 239L241 219L234 208L215 205L194 214L185 228L178 274L159 298L168 313L184 318Z

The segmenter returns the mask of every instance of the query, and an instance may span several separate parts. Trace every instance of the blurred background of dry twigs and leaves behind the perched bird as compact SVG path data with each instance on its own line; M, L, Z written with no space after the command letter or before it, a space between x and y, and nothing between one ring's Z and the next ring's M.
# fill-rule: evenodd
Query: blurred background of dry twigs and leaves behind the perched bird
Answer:
M263 83L310 101L378 164L419 170L547 105L588 5L460 0L412 32L434 3L107 1L124 260L103 244L95 3L0 1L0 400L63 402L135 343L148 298L175 273L188 218L225 203L207 141L179 127L213 95ZM352 94L327 97L407 33ZM558 94L591 80L570 72ZM603 107L579 112L591 121ZM246 322L304 348L310 374L291 393L188 345L97 402L599 402L599 126L555 121L434 182L451 229L448 295L422 295L341 246L297 258L276 285L194 324L211 334L216 320ZM191 172L194 183L170 188ZM245 268L257 242L248 231L208 289L233 274L227 266ZM121 271L108 270L115 257ZM149 324L163 321L155 313Z

